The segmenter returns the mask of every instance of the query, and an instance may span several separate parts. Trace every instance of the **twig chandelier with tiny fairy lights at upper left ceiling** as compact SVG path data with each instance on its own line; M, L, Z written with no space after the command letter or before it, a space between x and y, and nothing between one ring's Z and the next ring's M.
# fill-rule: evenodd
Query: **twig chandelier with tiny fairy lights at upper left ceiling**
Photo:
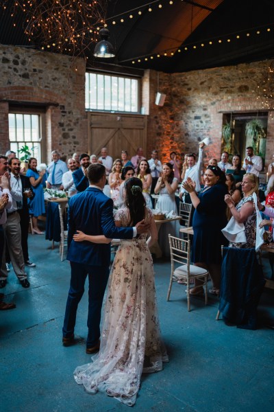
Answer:
M3 8L7 3L0 0ZM107 0L14 0L12 16L22 10L25 34L42 49L86 56L91 43L98 41L106 7Z

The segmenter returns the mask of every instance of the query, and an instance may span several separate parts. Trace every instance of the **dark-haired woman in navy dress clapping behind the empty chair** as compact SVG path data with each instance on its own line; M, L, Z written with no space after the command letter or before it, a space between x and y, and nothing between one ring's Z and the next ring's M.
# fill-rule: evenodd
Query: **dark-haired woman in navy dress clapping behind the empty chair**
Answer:
M227 206L223 200L227 194L227 185L225 185L225 173L218 166L208 165L203 179L205 187L199 194L195 192L195 185L191 179L183 183L195 207L191 260L195 266L208 269L213 284L210 293L219 295L221 245L227 244L221 232L221 229L227 225ZM190 290L190 295L203 295L203 284L200 280L195 279L195 286Z

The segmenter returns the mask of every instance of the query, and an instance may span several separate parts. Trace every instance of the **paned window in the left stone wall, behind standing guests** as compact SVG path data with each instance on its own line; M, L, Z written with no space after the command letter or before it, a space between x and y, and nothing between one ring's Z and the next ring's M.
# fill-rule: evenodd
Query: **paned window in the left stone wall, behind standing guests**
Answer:
M41 163L41 126L40 115L28 113L9 113L9 137L10 150L16 152L22 146L28 146L32 157L36 157L38 164Z

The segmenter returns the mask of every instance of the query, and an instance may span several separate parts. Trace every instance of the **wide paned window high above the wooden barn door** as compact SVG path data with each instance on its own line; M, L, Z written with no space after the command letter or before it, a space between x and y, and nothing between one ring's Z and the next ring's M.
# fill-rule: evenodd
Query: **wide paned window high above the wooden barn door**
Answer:
M86 73L86 109L138 113L138 79Z

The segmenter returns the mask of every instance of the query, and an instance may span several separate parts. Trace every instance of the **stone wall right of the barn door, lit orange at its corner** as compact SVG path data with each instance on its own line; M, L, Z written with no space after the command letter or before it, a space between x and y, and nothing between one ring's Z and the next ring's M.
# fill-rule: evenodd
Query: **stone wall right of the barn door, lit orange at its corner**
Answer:
M198 143L210 137L206 161L221 155L223 113L262 110L256 89L268 61L217 67L189 73L160 73L159 91L166 94L164 106L154 104L158 76L150 71L151 102L148 121L148 152L159 148L163 159L169 152L197 152ZM274 152L274 122L269 116L266 164Z

